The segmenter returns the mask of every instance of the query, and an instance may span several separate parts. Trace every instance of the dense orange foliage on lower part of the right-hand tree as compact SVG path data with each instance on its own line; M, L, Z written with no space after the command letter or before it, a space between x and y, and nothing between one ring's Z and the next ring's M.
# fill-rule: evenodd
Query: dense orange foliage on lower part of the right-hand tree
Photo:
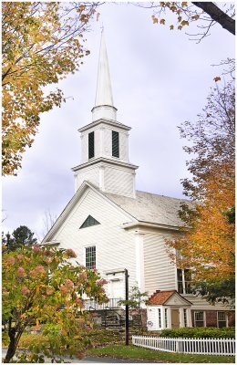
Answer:
M205 200L196 206L198 218L191 231L170 243L182 255L178 265L195 269L195 280L214 280L218 275L230 279L235 271L235 226L225 214L235 203L234 170L227 164L218 169L205 183Z

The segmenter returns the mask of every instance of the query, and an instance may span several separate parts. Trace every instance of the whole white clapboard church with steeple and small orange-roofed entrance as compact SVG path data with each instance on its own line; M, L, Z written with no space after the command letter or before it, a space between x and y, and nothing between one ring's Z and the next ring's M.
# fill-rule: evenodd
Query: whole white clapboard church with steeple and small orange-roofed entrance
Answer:
M91 111L92 121L78 130L81 162L72 169L76 193L42 243L72 248L81 265L97 268L108 281L110 308L118 308L125 297L128 269L129 287L149 293L149 330L232 326L232 311L192 295L190 271L170 262L165 240L179 234L184 201L135 188L138 166L129 162L130 127L117 120L104 31Z

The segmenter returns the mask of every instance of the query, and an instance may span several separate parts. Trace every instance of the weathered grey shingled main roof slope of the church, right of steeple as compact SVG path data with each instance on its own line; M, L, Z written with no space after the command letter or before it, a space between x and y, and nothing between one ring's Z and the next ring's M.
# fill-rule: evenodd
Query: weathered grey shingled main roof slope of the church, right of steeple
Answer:
M179 217L180 203L191 206L185 199L170 198L169 196L155 193L136 191L136 198L104 193L112 202L131 214L139 222L180 226L183 222Z

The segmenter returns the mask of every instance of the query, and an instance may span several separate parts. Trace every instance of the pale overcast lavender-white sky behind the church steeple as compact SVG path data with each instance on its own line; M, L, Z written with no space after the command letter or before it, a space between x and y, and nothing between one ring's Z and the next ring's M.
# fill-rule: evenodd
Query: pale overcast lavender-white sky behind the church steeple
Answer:
M75 193L71 168L80 163L77 129L91 121L102 22L118 121L132 128L129 161L139 165L136 188L183 197L180 179L188 176L188 155L177 126L197 120L215 86L213 78L222 73L211 65L234 57L234 36L214 26L211 36L196 44L184 30L154 25L150 10L106 4L99 13L87 35L90 56L80 71L57 86L67 103L42 114L22 169L16 177L3 179L5 233L27 225L42 238L45 212L60 214Z

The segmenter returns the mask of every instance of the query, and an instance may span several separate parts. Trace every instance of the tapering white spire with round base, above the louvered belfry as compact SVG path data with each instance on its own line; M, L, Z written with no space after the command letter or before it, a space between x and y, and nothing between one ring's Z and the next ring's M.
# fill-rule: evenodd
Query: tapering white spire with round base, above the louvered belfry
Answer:
M108 56L105 42L105 32L102 28L100 51L98 59L98 82L95 107L92 111L92 120L105 118L116 120L116 111L114 107L111 81L108 68Z

